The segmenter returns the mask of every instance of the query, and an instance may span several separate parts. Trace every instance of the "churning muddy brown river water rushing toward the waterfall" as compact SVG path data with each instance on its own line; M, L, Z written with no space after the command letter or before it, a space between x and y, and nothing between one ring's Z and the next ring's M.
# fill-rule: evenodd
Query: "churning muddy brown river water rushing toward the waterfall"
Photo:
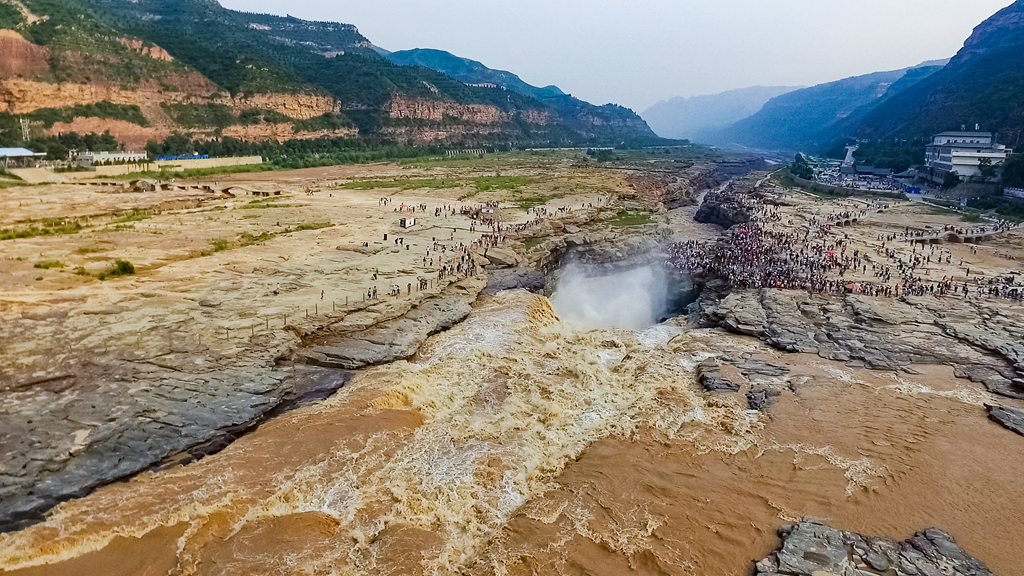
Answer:
M607 282L622 305L642 303ZM554 300L566 316L618 305L565 286ZM637 310L591 326L642 330L588 329L542 296L500 293L410 361L215 456L0 535L0 569L741 575L778 526L815 516L899 538L941 526L1017 573L1024 499L1008 494L1024 447L990 442L975 384L945 367L783 357L679 321L646 328L656 314ZM728 374L782 389L770 415L699 390L696 364L726 353L788 370Z

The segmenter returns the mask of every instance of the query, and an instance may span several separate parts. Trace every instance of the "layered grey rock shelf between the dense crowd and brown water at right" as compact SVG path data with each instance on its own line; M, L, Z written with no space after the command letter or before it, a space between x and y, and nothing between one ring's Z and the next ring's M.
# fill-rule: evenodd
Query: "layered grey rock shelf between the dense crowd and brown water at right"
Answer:
M880 370L946 364L992 393L1024 399L1024 324L975 300L741 290L705 298L698 323Z

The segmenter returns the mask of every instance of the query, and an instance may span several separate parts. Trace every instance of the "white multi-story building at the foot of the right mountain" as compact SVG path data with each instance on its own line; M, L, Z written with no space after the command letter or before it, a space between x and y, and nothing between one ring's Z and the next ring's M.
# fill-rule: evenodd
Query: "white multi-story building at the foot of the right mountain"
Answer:
M925 150L926 175L941 183L946 174L955 172L962 180L980 178L981 162L998 166L1013 151L994 142L990 132L942 132Z

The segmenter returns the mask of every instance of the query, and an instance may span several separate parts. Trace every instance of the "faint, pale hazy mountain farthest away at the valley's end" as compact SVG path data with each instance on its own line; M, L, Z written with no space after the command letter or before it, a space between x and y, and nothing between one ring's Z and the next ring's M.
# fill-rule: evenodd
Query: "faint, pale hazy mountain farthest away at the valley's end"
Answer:
M657 102L640 116L660 136L702 141L753 116L768 100L800 88L802 86L754 86L707 96L677 96Z

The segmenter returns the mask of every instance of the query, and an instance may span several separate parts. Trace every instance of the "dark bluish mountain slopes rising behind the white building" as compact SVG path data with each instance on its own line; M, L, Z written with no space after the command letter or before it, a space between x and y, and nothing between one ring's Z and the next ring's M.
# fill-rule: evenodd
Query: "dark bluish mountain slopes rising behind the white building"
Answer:
M645 118L655 130L669 119ZM923 142L945 130L995 133L1020 147L1024 132L1024 0L975 28L948 60L846 78L767 101L755 114L698 141L725 147L824 153L853 141ZM922 150L916 155L923 154Z

